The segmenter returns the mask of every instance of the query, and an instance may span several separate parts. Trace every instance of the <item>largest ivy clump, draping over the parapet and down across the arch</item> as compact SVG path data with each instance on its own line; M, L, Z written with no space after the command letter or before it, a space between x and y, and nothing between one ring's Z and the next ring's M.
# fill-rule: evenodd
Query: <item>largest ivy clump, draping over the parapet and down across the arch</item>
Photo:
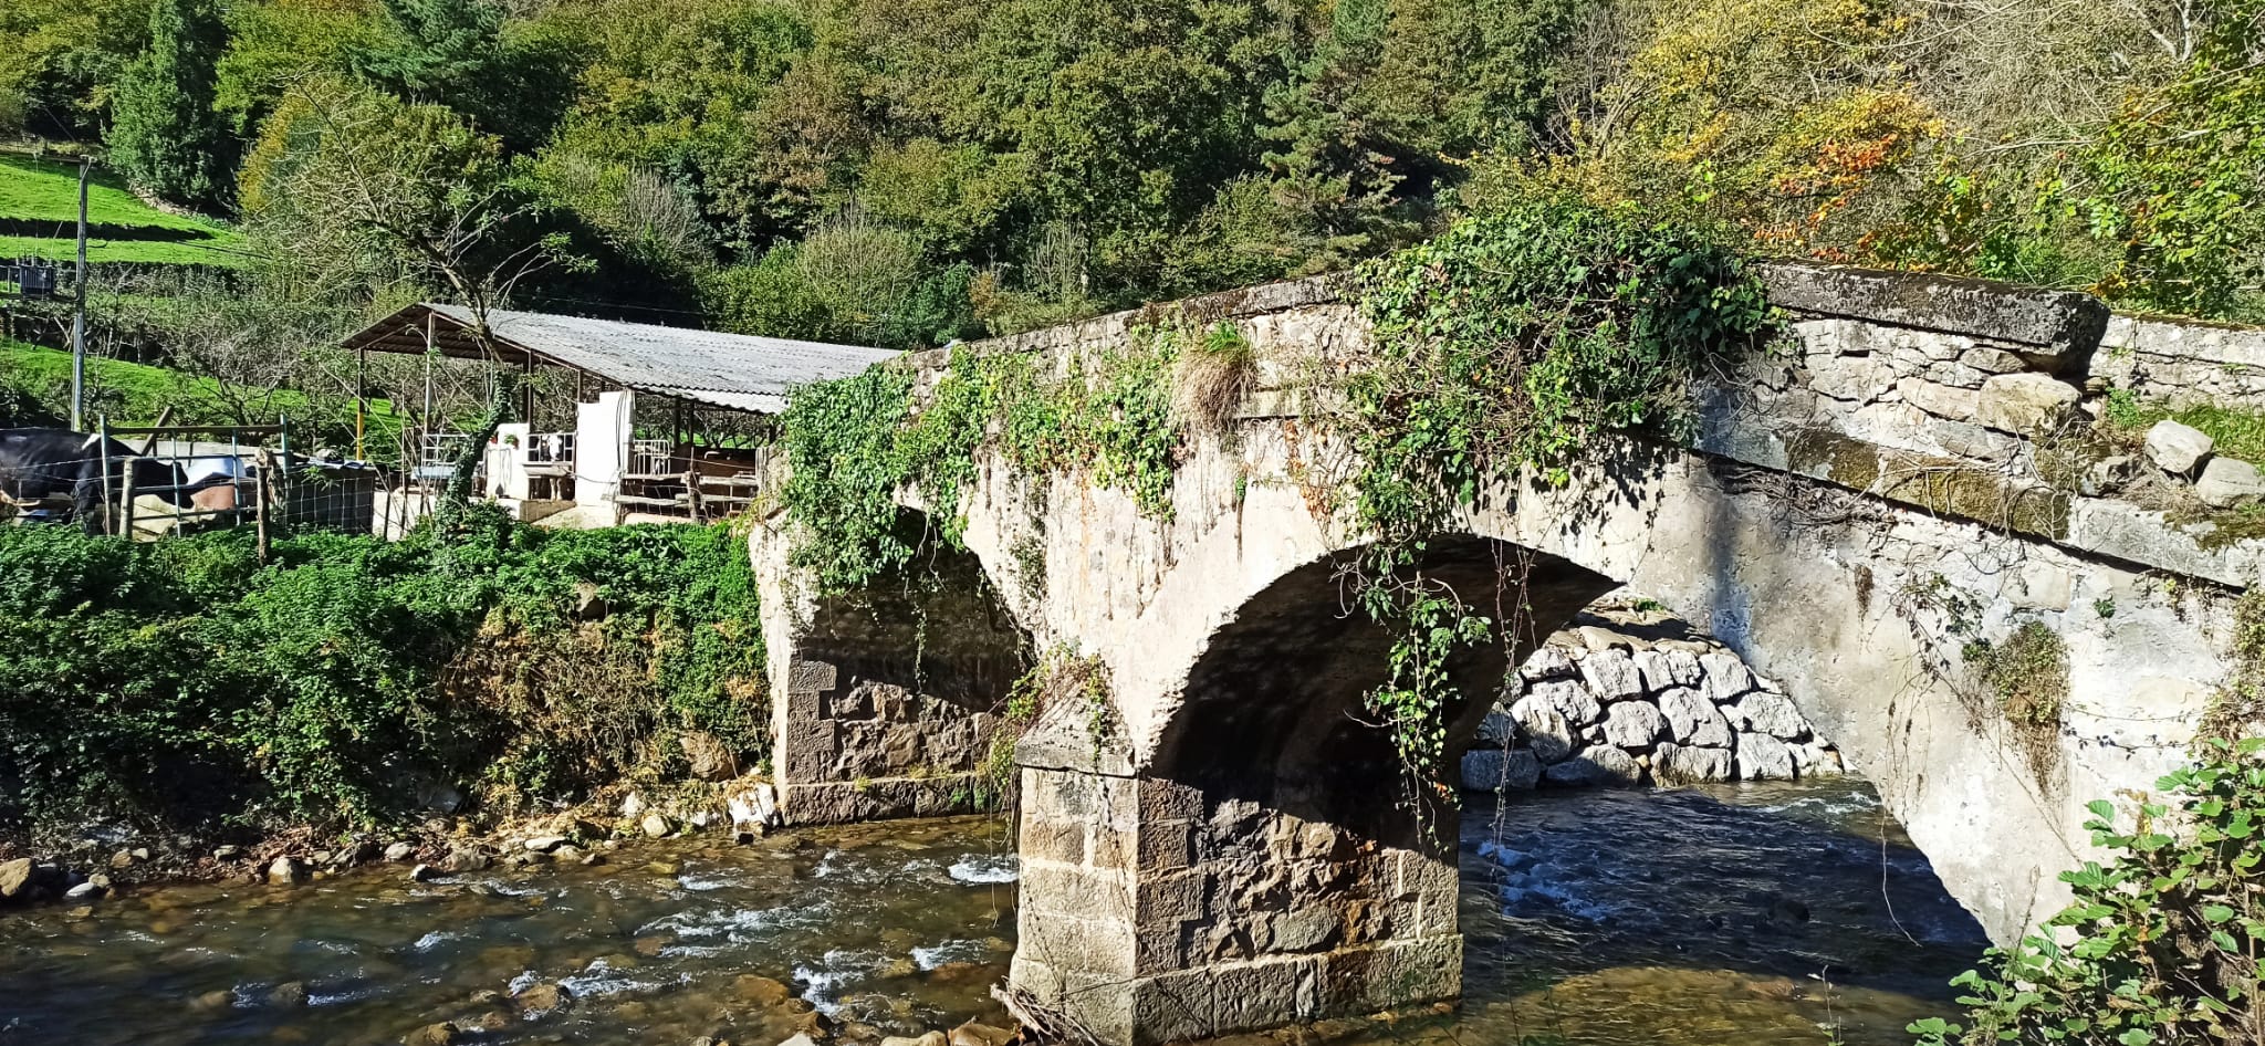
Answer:
M1359 460L1354 523L1375 534L1354 595L1398 632L1368 709L1411 777L1452 797L1447 661L1506 632L1422 573L1427 537L1497 475L1531 466L1563 487L1599 435L1683 435L1692 378L1767 344L1778 315L1721 240L1570 199L1461 222L1354 288L1375 337L1332 426Z

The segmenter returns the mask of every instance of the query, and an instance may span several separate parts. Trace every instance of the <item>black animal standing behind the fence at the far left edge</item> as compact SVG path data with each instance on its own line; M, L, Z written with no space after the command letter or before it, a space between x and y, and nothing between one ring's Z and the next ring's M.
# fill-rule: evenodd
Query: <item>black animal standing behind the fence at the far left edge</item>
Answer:
M181 507L190 505L190 496L199 489L229 482L226 475L215 475L190 487L179 464L143 457L127 444L100 435L68 428L0 430L0 498L14 507L32 507L68 494L88 534L102 532L109 505L125 491L127 469L134 471L136 496L156 494Z

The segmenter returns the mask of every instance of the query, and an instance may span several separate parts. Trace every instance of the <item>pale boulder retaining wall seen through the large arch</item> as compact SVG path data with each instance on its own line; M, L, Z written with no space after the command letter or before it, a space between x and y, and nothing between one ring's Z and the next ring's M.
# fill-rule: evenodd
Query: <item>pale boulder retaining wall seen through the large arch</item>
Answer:
M1839 749L1776 681L1660 611L1583 611L1513 686L1463 756L1468 792L1841 772Z

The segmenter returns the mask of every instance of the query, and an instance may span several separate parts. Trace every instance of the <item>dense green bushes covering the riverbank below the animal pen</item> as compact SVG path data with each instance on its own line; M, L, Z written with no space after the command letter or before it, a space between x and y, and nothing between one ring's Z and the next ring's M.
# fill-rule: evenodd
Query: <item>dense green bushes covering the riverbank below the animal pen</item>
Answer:
M369 824L766 754L747 557L725 528L163 543L0 528L0 829Z

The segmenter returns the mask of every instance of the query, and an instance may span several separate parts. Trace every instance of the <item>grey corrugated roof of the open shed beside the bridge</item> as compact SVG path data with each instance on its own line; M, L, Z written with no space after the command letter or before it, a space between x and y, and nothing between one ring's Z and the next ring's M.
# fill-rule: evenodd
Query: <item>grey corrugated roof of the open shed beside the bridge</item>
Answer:
M462 306L424 306L471 324ZM598 374L639 392L657 392L729 410L779 412L795 385L847 378L897 355L861 344L725 335L680 326L548 312L489 310L487 328L559 365Z

